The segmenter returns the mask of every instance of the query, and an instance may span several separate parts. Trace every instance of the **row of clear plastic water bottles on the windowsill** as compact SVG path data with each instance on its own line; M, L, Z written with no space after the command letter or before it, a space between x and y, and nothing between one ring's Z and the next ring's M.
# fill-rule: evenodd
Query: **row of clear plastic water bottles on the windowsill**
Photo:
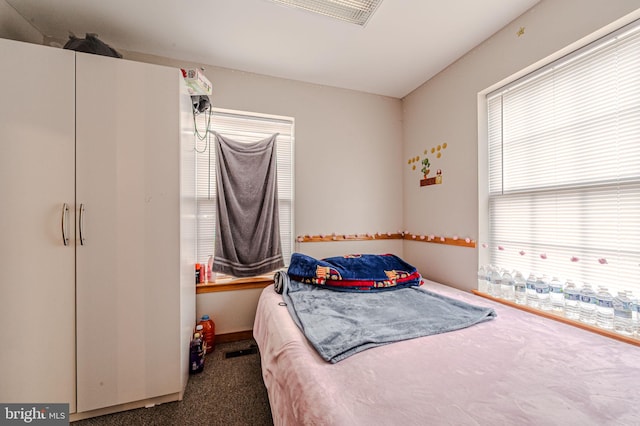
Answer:
M612 296L608 289L571 280L549 279L546 275L529 274L488 265L478 269L478 290L491 296L514 301L534 309L551 311L567 318L612 330L625 336L640 338L640 301L631 291Z

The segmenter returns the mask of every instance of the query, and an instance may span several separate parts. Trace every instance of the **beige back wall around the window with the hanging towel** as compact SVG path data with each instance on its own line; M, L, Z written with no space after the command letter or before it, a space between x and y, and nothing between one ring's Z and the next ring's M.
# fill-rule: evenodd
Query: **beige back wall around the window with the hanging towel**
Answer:
M203 66L219 108L295 118L295 229L298 235L402 229L402 108L399 99L122 52L127 59ZM314 257L395 253L400 240L297 243ZM217 333L251 329L259 290L200 294L198 317Z

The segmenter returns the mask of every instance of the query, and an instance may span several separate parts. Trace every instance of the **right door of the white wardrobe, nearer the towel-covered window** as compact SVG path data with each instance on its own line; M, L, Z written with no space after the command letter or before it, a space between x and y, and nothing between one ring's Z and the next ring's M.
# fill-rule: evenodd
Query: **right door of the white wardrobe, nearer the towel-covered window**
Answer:
M82 412L180 390L180 74L76 62Z

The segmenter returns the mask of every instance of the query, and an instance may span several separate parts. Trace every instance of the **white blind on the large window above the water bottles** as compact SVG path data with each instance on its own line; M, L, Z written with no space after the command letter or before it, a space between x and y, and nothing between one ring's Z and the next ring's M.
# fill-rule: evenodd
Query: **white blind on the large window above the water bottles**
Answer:
M640 296L640 24L487 105L491 263Z

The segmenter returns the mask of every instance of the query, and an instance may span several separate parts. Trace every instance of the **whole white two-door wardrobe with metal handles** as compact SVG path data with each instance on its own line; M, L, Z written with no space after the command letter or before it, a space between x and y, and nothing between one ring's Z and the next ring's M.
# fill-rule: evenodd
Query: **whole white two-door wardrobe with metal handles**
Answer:
M182 398L195 323L178 69L0 39L0 401Z

